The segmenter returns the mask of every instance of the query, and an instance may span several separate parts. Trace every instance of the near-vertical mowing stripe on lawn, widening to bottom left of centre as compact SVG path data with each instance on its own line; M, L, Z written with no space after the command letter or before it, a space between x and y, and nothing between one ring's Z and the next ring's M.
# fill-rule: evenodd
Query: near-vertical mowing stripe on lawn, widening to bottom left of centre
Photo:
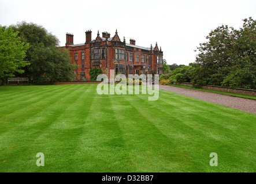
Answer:
M85 172L118 172L127 168L127 148L107 96L95 94L86 122L78 167Z

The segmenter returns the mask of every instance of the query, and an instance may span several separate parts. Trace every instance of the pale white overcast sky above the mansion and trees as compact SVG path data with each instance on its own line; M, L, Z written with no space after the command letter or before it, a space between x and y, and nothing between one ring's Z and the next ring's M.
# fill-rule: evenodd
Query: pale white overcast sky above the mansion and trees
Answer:
M0 0L0 25L26 21L42 25L66 43L66 32L74 34L74 43L86 41L86 30L92 39L97 32L109 32L136 45L162 47L168 64L195 61L194 50L206 41L209 32L222 24L239 29L243 19L256 18L255 0L214 1L140 1L140 0Z

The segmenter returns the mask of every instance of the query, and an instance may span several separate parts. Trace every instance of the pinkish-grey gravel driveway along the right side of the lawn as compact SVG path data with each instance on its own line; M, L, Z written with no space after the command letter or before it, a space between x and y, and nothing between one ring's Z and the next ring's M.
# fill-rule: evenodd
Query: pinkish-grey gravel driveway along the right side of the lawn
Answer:
M159 85L159 89L256 114L256 100L254 99L233 97L225 94L210 93L206 91L186 89L183 87L175 86Z

